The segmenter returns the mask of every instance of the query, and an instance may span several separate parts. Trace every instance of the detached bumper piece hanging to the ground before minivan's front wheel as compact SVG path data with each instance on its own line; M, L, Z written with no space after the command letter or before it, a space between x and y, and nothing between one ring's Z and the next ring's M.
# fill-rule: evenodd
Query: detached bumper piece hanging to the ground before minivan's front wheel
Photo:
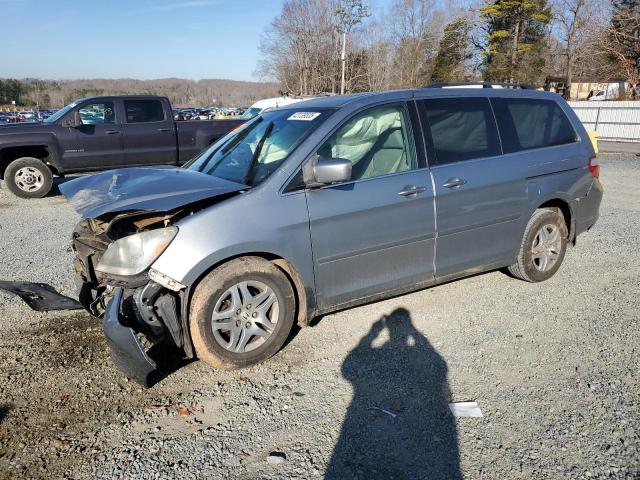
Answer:
M122 297L123 289L116 288L104 314L104 334L111 348L111 359L127 377L148 387L156 363L145 352L136 332L122 323Z

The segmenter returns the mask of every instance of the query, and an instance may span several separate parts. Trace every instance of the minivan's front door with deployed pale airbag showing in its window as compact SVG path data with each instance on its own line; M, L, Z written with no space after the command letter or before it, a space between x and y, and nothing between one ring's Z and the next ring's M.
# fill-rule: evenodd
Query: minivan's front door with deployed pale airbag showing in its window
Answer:
M433 191L412 131L404 103L378 106L318 150L352 163L351 181L306 193L320 308L433 280Z

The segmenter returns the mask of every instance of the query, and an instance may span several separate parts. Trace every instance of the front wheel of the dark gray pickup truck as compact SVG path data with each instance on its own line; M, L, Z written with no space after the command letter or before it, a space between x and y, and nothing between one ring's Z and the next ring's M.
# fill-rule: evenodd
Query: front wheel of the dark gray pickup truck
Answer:
M22 157L9 164L4 181L11 193L20 198L42 198L51 191L53 175L42 160Z

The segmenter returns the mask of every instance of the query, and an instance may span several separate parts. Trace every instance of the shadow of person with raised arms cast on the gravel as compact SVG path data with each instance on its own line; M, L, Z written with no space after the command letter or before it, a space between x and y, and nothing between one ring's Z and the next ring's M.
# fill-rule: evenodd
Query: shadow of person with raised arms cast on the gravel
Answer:
M381 337L385 329L388 338ZM353 401L325 478L462 478L447 365L407 310L373 324L342 374Z

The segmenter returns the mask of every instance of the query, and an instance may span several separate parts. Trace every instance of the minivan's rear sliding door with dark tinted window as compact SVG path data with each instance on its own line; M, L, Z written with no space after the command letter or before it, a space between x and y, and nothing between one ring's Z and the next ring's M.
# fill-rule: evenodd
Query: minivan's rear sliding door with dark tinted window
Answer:
M436 277L504 265L522 239L525 166L502 155L487 98L419 103L436 189Z

